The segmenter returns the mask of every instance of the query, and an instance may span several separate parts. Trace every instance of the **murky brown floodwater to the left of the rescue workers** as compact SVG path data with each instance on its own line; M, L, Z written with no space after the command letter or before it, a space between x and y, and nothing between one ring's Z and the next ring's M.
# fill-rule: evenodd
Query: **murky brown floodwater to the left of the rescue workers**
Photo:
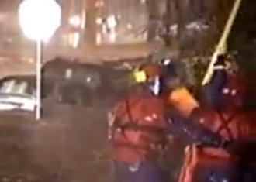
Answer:
M42 122L0 119L0 181L110 181L106 112L64 109Z

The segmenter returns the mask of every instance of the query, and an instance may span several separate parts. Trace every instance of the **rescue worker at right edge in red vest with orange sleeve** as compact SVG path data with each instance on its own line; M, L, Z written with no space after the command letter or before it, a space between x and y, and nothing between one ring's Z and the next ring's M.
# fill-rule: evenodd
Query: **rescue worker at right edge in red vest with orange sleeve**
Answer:
M237 166L237 161L244 163L244 156L247 156L247 152L250 151L247 147L254 149L255 142L251 136L256 134L254 118L250 117L250 113L242 110L244 88L240 86L240 81L234 75L226 74L225 69L216 69L215 71L218 74L213 75L212 81L219 84L213 85L217 85L217 87L221 85L221 87L220 91L214 91L219 100L214 101L213 108L201 107L182 85L173 88L172 91L169 90L168 101L191 122L204 126L216 135L220 135L223 141L234 142L236 145L234 145L234 149L221 143L220 146L209 146L205 143L194 143L189 146L185 152L185 162L179 181L255 181L254 177L248 177L248 175L247 180L244 180L247 171L241 172L241 168L245 166L241 167L240 164ZM220 74L226 76L220 79ZM247 145L247 140L250 139L252 145ZM250 169L254 169L254 167ZM237 176L237 174L241 175Z

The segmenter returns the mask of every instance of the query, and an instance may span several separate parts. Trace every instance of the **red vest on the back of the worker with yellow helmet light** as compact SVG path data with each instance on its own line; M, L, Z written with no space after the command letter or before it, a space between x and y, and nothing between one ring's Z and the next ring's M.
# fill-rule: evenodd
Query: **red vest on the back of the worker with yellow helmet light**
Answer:
M141 91L120 101L114 115L115 160L134 163L154 159L164 143L164 100Z

